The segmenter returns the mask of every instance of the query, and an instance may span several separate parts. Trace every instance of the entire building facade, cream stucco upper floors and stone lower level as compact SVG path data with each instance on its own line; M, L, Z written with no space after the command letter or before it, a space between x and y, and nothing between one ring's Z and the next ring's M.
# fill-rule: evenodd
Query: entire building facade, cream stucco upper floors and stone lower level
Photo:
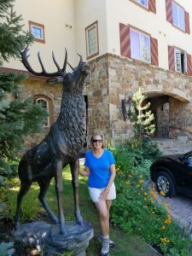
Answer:
M48 72L55 70L51 51L62 65L67 49L75 67L80 53L90 63L85 84L87 138L102 131L108 142L131 137L121 102L142 88L151 103L157 137L192 135L192 3L189 0L37 0L15 1L25 29L35 37L29 58L40 71L40 51ZM69 68L69 67L68 67ZM4 71L26 72L20 61ZM62 86L29 74L20 98L32 96L49 110L44 134L60 111ZM26 139L26 148L44 134Z

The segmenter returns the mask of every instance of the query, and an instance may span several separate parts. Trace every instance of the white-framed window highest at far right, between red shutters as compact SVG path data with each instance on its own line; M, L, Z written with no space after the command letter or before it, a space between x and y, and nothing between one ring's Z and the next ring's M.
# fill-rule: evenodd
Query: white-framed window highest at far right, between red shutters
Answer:
M176 10L176 13L174 12ZM177 3L172 1L172 24L185 31L185 12Z

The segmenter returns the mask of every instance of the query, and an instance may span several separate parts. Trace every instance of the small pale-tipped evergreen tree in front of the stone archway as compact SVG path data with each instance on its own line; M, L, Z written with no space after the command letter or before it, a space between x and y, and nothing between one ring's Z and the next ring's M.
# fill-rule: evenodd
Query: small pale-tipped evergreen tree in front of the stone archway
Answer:
M154 113L151 113L150 102L144 103L147 96L139 88L133 95L135 111L129 112L131 121L134 121L134 133L137 139L142 139L144 135L152 135L155 131L155 125L152 124L154 120Z

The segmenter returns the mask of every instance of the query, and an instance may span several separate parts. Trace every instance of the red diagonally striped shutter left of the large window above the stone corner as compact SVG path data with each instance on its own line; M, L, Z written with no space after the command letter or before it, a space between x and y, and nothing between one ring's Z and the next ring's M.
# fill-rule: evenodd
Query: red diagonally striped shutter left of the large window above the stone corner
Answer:
M119 23L120 32L120 54L131 57L130 26Z

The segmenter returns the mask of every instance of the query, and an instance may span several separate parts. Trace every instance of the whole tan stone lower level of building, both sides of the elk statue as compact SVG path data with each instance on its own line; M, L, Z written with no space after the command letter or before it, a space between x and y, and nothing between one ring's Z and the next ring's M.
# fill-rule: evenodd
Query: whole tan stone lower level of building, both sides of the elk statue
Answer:
M147 93L151 109L157 113L161 128L169 126L169 136L192 134L192 78L188 75L170 72L142 61L106 54L90 61L90 77L84 86L87 96L87 141L95 131L107 137L107 143L130 138L132 124L123 119L121 100L127 90L132 93L141 87ZM62 84L48 85L45 80L27 79L21 88L21 97L34 95L48 96L53 104L54 120L60 112ZM169 102L169 113L162 112ZM157 114L155 116L157 118ZM168 121L167 121L168 120ZM157 119L156 119L157 122ZM26 148L38 143L48 132L42 131L26 138ZM163 131L159 132L163 134ZM156 134L157 135L157 134Z

